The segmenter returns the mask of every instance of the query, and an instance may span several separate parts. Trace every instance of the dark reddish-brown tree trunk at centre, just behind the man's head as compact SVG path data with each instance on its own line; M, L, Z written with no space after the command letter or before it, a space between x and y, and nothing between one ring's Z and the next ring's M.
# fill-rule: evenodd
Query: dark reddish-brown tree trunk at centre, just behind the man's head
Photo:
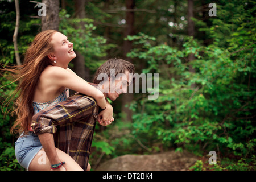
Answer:
M126 9L134 9L135 0L126 0ZM126 11L126 24L124 36L134 35L134 11ZM123 59L126 61L133 62L130 57L127 57L126 54L131 51L132 42L125 40L123 43ZM126 115L126 121L131 121L132 111L125 107L126 104L129 105L130 101L133 100L133 93L122 94L122 113Z

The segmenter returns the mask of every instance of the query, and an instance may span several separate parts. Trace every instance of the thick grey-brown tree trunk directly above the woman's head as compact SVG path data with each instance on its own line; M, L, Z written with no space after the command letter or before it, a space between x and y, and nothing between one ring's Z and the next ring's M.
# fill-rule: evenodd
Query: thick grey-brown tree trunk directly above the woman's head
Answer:
M42 16L42 31L59 31L59 0L42 0L46 4L46 16Z

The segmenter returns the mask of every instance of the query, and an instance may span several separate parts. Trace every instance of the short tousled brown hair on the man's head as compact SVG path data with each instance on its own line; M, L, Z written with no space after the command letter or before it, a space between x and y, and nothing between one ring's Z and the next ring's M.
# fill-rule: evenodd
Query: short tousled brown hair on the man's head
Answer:
M111 58L97 69L93 79L94 84L99 84L102 80L104 80L104 78L102 78L102 80L97 80L98 75L101 73L106 73L108 77L110 77L110 69L114 69L115 76L117 76L118 73L125 73L126 70L129 71L129 73L135 72L134 64L130 63L129 61Z

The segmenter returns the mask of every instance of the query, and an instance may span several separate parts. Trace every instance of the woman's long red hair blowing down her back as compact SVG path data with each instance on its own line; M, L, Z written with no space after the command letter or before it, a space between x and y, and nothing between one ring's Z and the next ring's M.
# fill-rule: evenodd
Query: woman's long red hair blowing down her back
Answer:
M9 78L12 78L13 82L18 81L18 86L12 97L14 98L18 94L13 110L17 119L11 127L12 134L18 132L27 134L30 129L31 119L34 115L32 99L40 74L44 68L51 64L47 55L54 51L51 40L55 32L57 31L40 32L27 49L23 64L4 68L5 71L11 73Z

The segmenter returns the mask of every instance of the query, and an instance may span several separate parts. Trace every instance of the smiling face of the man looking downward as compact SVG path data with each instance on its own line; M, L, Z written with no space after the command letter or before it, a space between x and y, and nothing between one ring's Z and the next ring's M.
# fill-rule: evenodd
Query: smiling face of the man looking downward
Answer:
M117 76L114 80L109 78L109 92L104 93L105 97L108 97L112 101L116 100L120 94L127 93L127 86L129 86L133 80L131 76L129 79L129 71L127 70L124 74L120 75L122 76Z

